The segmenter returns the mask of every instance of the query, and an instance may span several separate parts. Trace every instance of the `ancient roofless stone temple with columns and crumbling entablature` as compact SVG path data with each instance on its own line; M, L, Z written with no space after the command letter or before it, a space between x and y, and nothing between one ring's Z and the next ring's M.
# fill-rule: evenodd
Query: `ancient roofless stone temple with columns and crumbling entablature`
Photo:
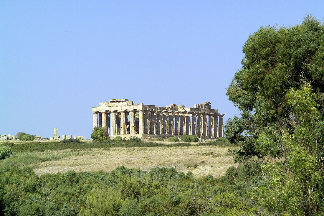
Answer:
M165 107L133 104L128 99L112 99L92 107L93 127L106 128L115 137L141 138L181 137L184 134L199 138L224 137L223 116L212 109L210 102L184 107L172 103Z

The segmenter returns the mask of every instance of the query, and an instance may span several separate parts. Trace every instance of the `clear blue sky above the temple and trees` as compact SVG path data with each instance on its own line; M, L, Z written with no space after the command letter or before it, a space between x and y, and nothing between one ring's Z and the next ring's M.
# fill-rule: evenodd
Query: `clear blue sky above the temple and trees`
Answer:
M0 134L92 131L112 98L193 106L225 120L242 46L261 26L324 18L323 1L0 1Z

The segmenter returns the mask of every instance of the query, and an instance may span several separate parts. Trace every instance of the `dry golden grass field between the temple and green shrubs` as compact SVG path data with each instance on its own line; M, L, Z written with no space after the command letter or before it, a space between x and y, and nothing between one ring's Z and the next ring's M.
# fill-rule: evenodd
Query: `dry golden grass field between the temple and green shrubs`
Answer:
M238 164L234 163L233 156L228 155L228 148L189 146L93 149L81 156L41 162L37 165L38 167L34 169L36 174L69 170L110 172L116 167L124 165L127 168L139 167L146 171L153 167L174 167L180 172L190 171L195 177L205 175L219 177L224 175L229 167ZM188 165L192 167L188 168Z

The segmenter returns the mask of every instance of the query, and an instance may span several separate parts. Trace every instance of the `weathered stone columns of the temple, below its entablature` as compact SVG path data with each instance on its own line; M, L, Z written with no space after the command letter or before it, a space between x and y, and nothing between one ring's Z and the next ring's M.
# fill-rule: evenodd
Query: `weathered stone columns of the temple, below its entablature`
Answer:
M136 112L138 112L138 132L136 131L135 124ZM222 114L150 110L93 111L92 113L93 127L99 126L106 128L109 135L127 134L129 113L129 134L193 134L201 137L224 137Z

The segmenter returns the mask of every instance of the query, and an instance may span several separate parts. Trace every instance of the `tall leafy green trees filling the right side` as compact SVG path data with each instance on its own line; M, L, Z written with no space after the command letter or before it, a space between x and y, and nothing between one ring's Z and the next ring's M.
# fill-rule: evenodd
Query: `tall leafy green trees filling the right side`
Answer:
M227 95L242 112L226 122L236 161L257 170L247 194L274 215L324 214L324 25L264 27L243 46Z

